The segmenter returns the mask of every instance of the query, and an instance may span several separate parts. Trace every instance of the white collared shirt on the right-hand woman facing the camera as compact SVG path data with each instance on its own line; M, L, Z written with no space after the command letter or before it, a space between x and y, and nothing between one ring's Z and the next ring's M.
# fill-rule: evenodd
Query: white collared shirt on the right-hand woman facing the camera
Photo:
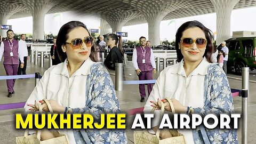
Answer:
M203 107L204 106L204 78L207 75L207 68L210 63L204 58L202 62L194 69L188 77L186 77L183 68L183 60L175 65L166 67L159 77L151 91L146 102L144 111L150 112L150 101L162 100L164 98L176 99L180 101L183 106ZM159 113L155 111L155 117L152 127L159 123ZM191 130L179 130L185 135L188 143L194 143L193 134Z

